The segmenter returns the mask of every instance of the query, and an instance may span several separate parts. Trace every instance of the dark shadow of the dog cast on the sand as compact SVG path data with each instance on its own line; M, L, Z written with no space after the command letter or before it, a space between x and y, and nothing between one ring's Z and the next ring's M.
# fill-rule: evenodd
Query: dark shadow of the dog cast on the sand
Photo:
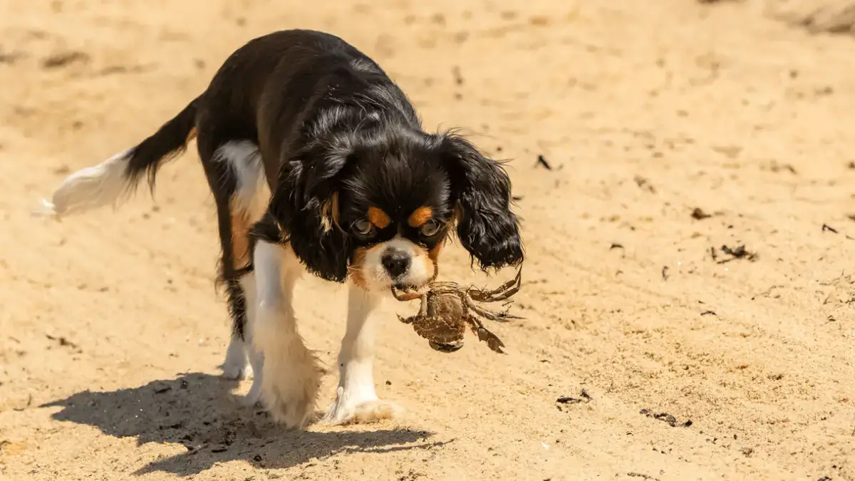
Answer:
M53 419L96 426L110 436L134 436L138 444L177 443L186 449L154 460L136 474L197 474L230 460L284 468L343 452L386 453L443 444L425 441L433 433L405 428L285 431L257 409L241 407L231 395L235 387L236 381L195 372L139 388L87 390L43 407L62 407Z

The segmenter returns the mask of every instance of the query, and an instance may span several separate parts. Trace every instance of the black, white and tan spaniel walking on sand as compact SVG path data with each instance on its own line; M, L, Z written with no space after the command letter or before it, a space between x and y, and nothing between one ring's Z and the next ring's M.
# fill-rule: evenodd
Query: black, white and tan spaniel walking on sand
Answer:
M522 263L510 178L453 131L429 134L369 56L329 33L251 39L208 88L139 145L69 175L42 212L121 205L195 138L215 200L218 281L233 334L224 376L254 373L245 401L303 428L323 369L299 335L294 283L304 272L347 283L339 387L324 419L369 422L401 411L374 389L370 314L392 286L433 281L456 234L473 267Z

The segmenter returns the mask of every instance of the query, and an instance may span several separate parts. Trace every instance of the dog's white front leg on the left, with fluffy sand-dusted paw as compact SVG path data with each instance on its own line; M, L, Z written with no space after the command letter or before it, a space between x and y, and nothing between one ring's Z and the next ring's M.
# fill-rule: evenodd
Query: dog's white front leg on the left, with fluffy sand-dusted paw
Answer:
M261 401L276 422L303 428L314 413L319 360L297 330L292 297L302 272L291 248L259 241L253 253L257 309L252 344L262 356Z

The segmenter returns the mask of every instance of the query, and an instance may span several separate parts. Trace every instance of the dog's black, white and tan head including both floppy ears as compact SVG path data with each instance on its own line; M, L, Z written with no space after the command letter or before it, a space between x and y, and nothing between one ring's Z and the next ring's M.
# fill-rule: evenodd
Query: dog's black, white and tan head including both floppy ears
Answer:
M306 268L370 290L422 287L451 232L482 270L522 262L510 179L455 134L341 134L283 169L270 213Z

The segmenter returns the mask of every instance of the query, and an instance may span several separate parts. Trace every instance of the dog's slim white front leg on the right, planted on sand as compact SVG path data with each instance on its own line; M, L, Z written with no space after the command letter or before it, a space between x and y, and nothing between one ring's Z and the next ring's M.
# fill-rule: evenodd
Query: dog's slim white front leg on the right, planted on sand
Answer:
M374 320L371 312L380 305L380 294L351 282L348 293L347 331L339 352L339 389L325 420L333 425L369 423L403 412L398 405L381 401L374 390Z

